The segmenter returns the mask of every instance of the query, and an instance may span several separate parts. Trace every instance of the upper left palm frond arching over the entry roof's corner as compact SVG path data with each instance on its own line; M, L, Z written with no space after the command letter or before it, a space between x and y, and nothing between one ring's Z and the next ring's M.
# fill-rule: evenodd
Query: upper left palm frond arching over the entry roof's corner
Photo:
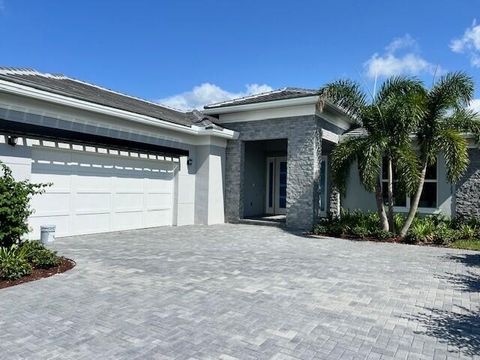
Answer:
M320 96L340 107L349 116L360 121L367 96L362 87L352 80L337 80L320 88Z

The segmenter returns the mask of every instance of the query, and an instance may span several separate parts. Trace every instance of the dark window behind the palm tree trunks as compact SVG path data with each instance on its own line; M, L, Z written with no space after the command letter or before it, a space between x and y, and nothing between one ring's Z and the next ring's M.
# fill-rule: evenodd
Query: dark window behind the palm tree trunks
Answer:
M412 199L400 189L398 180L395 179L395 167L393 168L393 206L410 208ZM382 193L385 204L388 204L388 162L382 164ZM425 175L422 195L420 196L419 208L435 209L437 207L437 163L429 166Z

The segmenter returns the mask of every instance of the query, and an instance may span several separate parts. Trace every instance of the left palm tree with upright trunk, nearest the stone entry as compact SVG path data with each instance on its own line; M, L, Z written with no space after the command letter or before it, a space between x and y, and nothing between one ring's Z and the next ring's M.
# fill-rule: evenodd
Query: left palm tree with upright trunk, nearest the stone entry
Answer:
M398 185L407 193L416 189L419 178L410 134L421 116L422 83L414 78L392 77L383 83L370 103L360 85L349 80L329 83L320 91L327 101L343 108L356 119L366 132L365 136L342 141L333 150L334 183L340 192L344 192L350 167L357 162L363 186L375 193L381 228L393 231L393 163ZM388 216L381 182L383 161L388 165Z

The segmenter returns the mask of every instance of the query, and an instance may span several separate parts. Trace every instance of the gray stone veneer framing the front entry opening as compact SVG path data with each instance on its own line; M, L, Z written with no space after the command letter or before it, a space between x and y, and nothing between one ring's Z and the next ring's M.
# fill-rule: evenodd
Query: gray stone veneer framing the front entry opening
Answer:
M238 131L228 141L225 169L225 217L243 218L245 141L287 139L287 227L310 230L318 213L316 184L321 156L321 119L316 116L223 124Z

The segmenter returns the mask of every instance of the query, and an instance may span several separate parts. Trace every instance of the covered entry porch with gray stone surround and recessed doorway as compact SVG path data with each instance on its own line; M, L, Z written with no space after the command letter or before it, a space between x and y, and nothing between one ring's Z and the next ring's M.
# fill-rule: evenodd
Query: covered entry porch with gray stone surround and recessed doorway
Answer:
M288 228L310 230L327 216L334 142L323 123L305 116L228 124L240 135L227 144L227 221L284 217Z

